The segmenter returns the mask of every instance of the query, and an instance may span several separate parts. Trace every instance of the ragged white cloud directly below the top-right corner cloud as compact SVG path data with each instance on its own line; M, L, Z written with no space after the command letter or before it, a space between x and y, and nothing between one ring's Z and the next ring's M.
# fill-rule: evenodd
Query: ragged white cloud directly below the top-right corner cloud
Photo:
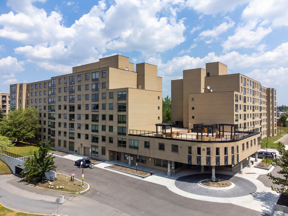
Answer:
M226 41L222 42L224 50L244 48L253 48L258 44L266 35L272 32L271 27L263 28L256 27L257 20L248 22L246 25L239 25L235 34L229 36Z

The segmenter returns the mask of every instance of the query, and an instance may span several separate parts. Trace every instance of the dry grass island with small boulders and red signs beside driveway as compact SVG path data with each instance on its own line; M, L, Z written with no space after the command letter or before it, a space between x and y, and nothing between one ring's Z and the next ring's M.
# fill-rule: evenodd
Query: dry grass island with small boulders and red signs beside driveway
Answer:
M78 176L77 179L81 179L81 176ZM37 185L38 187L51 189L48 187L49 182L47 180L44 182L36 183L35 185ZM85 183L84 183L84 187L81 187L81 185L82 185L82 181L79 182L75 179L74 179L74 181L71 181L71 177L68 177L68 176L65 176L62 174L57 174L57 179L55 181L53 181L50 186L53 186L53 188L51 190L67 191L67 192L76 193L76 192L86 190L88 188L88 185ZM56 189L56 186L58 186L58 187L64 186L64 188L57 188Z

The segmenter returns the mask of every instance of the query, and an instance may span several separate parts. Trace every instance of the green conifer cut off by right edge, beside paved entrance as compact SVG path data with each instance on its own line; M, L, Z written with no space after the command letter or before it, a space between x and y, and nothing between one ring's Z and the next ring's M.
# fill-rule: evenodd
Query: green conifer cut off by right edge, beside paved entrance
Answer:
M267 174L269 179L272 179L273 184L280 185L280 188L271 186L272 190L277 191L277 193L283 193L284 195L288 194L288 150L285 149L285 145L281 142L278 143L279 153L282 157L275 160L276 166L281 167L282 169L277 173L282 174L284 179L280 177L272 176L271 173Z

